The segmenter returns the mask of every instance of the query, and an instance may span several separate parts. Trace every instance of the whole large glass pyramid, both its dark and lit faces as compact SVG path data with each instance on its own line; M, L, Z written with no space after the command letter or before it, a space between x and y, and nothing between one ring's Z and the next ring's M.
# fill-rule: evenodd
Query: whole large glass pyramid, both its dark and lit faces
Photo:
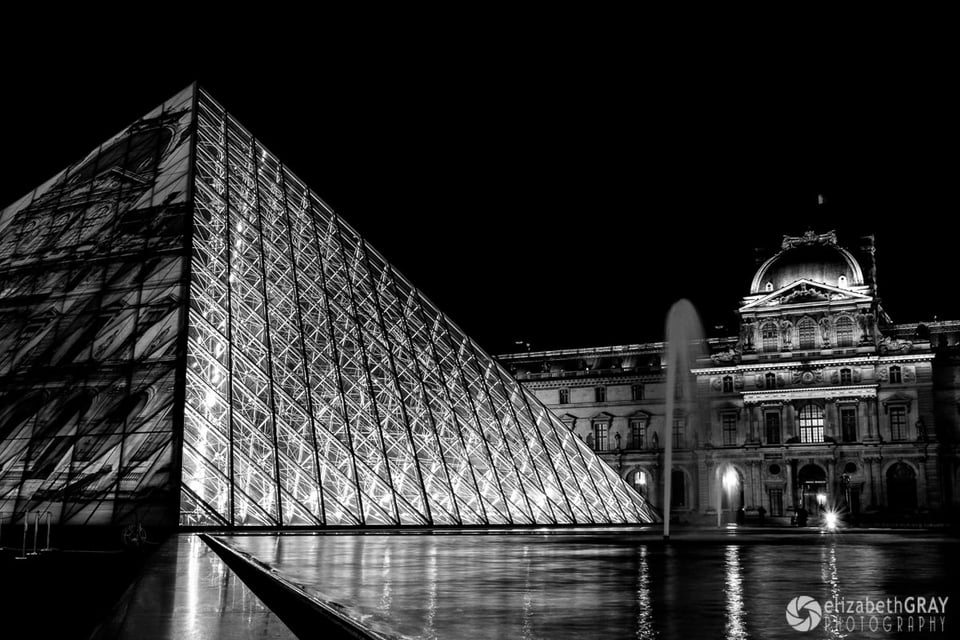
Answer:
M8 521L651 520L202 90L0 213L0 325Z

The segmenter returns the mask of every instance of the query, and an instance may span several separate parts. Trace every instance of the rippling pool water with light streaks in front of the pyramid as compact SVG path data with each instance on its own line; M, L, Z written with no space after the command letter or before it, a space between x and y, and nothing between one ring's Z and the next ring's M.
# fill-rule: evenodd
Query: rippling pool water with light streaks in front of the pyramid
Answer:
M950 595L960 555L956 540L920 535L668 546L568 533L224 539L365 624L423 639L794 638L794 597ZM803 634L846 635L826 624Z

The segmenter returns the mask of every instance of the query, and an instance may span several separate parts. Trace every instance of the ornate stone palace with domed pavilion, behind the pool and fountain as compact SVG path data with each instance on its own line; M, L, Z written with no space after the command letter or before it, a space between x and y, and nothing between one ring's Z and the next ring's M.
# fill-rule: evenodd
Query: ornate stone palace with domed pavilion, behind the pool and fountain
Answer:
M500 359L660 509L669 438L681 519L946 517L960 509L960 322L894 324L875 273L872 238L784 237L738 335L705 340L684 372L693 397L670 391L672 420L664 343Z

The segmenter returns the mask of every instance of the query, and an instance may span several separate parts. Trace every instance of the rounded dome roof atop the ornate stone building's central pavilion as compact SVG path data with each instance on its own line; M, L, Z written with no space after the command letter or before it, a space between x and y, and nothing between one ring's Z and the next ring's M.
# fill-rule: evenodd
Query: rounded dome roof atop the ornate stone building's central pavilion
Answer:
M836 244L836 234L807 232L799 238L784 236L782 249L763 263L753 277L750 293L776 291L797 280L834 287L863 284L863 271L846 249Z

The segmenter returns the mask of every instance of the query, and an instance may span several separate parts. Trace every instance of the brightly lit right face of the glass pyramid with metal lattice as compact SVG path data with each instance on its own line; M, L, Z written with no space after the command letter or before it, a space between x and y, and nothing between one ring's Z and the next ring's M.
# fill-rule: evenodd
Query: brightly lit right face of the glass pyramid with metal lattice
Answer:
M653 520L643 498L220 105L189 93L191 137L181 123L177 148L192 143L191 199L171 278L181 289L169 298L181 320L175 335L164 333L179 374L164 393L124 405L126 422L144 403L173 408L154 463L179 465L180 524ZM105 397L106 386L92 396ZM137 393L145 391L123 395ZM120 431L94 463L107 476L143 464L125 460ZM29 454L22 468L7 482L18 496ZM67 493L54 497L77 499ZM47 487L12 511L50 497Z

